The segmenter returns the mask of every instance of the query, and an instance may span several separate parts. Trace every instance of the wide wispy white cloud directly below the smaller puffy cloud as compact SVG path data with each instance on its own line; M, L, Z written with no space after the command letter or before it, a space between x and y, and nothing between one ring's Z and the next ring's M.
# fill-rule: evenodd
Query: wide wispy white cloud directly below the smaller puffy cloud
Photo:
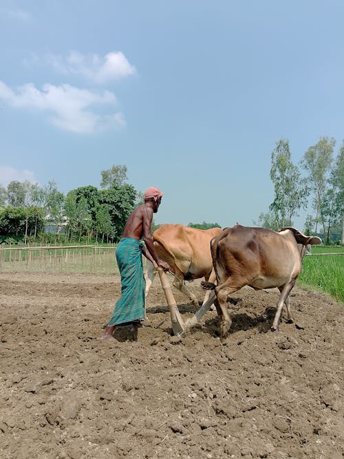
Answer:
M51 114L51 122L59 129L75 133L94 133L105 129L120 129L125 119L120 112L98 114L94 105L116 105L116 96L109 91L92 92L71 85L43 85L37 89L28 83L12 90L0 81L0 100L11 107L28 108Z

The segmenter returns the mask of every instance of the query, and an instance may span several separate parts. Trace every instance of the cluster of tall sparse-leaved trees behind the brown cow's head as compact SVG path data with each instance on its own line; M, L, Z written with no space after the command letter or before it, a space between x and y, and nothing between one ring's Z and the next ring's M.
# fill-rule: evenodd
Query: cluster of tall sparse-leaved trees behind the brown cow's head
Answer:
M276 142L270 169L275 196L269 212L259 215L257 226L292 226L292 218L310 203L313 213L305 220L305 233L321 234L327 244L338 240L343 244L344 141L336 155L335 145L334 138L321 137L305 151L298 167L292 162L289 141Z

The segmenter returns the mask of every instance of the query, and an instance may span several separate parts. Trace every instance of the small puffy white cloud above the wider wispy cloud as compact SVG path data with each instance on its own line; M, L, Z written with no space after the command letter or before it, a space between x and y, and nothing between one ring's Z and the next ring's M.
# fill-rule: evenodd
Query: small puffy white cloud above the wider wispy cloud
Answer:
M56 72L64 75L83 76L100 84L136 74L136 68L120 51L109 52L104 57L98 54L81 54L70 51L66 58L50 54L47 56L47 61Z

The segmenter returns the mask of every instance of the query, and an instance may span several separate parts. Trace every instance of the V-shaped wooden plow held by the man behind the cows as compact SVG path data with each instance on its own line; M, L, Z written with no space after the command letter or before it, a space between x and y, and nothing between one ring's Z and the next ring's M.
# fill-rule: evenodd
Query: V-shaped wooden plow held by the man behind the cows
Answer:
M162 290L164 290L164 295L166 297L167 304L169 305L173 333L175 335L182 336L185 334L188 328L200 321L204 314L211 308L211 305L213 304L215 299L215 292L211 292L211 295L206 301L206 303L204 303L200 307L200 309L197 310L197 312L195 312L193 317L187 319L184 322L178 310L177 303L175 302L175 299L173 297L171 286L169 284L169 279L167 279L166 273L162 268L158 267L158 274L160 277Z

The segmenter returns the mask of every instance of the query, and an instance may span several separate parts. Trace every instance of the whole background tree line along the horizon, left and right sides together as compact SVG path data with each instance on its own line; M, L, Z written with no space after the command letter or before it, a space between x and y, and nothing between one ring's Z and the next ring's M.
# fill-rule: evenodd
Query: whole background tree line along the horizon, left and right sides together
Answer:
M271 153L270 179L274 199L256 226L278 229L292 226L293 217L308 209L303 231L318 233L327 243L341 239L344 227L344 141L337 154L334 138L321 137L305 151L299 167L292 162L289 141L281 138ZM45 186L28 181L0 185L0 242L47 242L56 235L43 233L47 222L59 228L64 242L117 242L127 217L143 202L142 192L127 183L127 167L101 171L100 189L81 186L67 195L54 181ZM189 223L207 229L219 224ZM153 222L152 229L157 228ZM64 234L61 234L64 228Z

